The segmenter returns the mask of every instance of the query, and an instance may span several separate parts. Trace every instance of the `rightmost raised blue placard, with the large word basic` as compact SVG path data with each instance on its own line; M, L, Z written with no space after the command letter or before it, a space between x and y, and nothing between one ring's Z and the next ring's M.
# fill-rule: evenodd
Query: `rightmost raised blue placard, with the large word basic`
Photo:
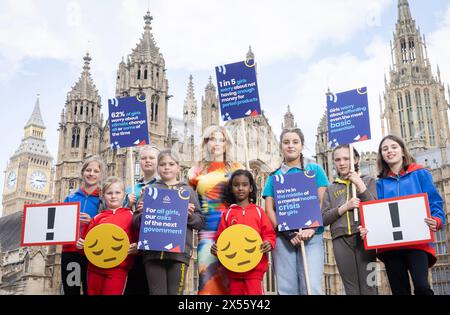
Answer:
M328 146L371 139L367 88L327 95Z

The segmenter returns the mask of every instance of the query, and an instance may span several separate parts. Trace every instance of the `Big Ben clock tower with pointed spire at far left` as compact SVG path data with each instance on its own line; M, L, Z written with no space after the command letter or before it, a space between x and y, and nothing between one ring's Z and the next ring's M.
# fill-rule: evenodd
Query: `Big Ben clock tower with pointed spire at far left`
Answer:
M25 204L42 203L53 193L53 158L44 137L39 96L24 128L19 148L9 159L3 187L3 215L22 211Z

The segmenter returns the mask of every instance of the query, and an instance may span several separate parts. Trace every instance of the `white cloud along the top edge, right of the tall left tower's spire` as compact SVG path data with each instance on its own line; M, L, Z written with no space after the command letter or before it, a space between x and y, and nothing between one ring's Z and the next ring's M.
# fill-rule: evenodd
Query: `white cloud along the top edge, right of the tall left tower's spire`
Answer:
M324 43L334 46L349 40L376 25L390 2L166 0L154 28L172 67L208 69L239 60L249 44L260 63L272 63L308 59Z

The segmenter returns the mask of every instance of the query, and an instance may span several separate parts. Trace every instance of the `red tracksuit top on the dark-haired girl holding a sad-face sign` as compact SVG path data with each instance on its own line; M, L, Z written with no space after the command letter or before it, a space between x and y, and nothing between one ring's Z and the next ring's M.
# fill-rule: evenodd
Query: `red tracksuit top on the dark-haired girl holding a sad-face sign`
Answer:
M250 226L255 229L259 235L261 235L263 243L265 241L269 241L270 244L272 244L272 249L275 248L275 230L270 223L269 217L261 207L253 203L250 203L245 209L242 209L241 206L235 204L231 205L228 210L222 214L216 234L216 242L223 230L234 224L244 224ZM265 254L259 264L252 270L242 273L229 271L229 276L230 278L262 280L268 267L269 262L267 259L267 254Z

